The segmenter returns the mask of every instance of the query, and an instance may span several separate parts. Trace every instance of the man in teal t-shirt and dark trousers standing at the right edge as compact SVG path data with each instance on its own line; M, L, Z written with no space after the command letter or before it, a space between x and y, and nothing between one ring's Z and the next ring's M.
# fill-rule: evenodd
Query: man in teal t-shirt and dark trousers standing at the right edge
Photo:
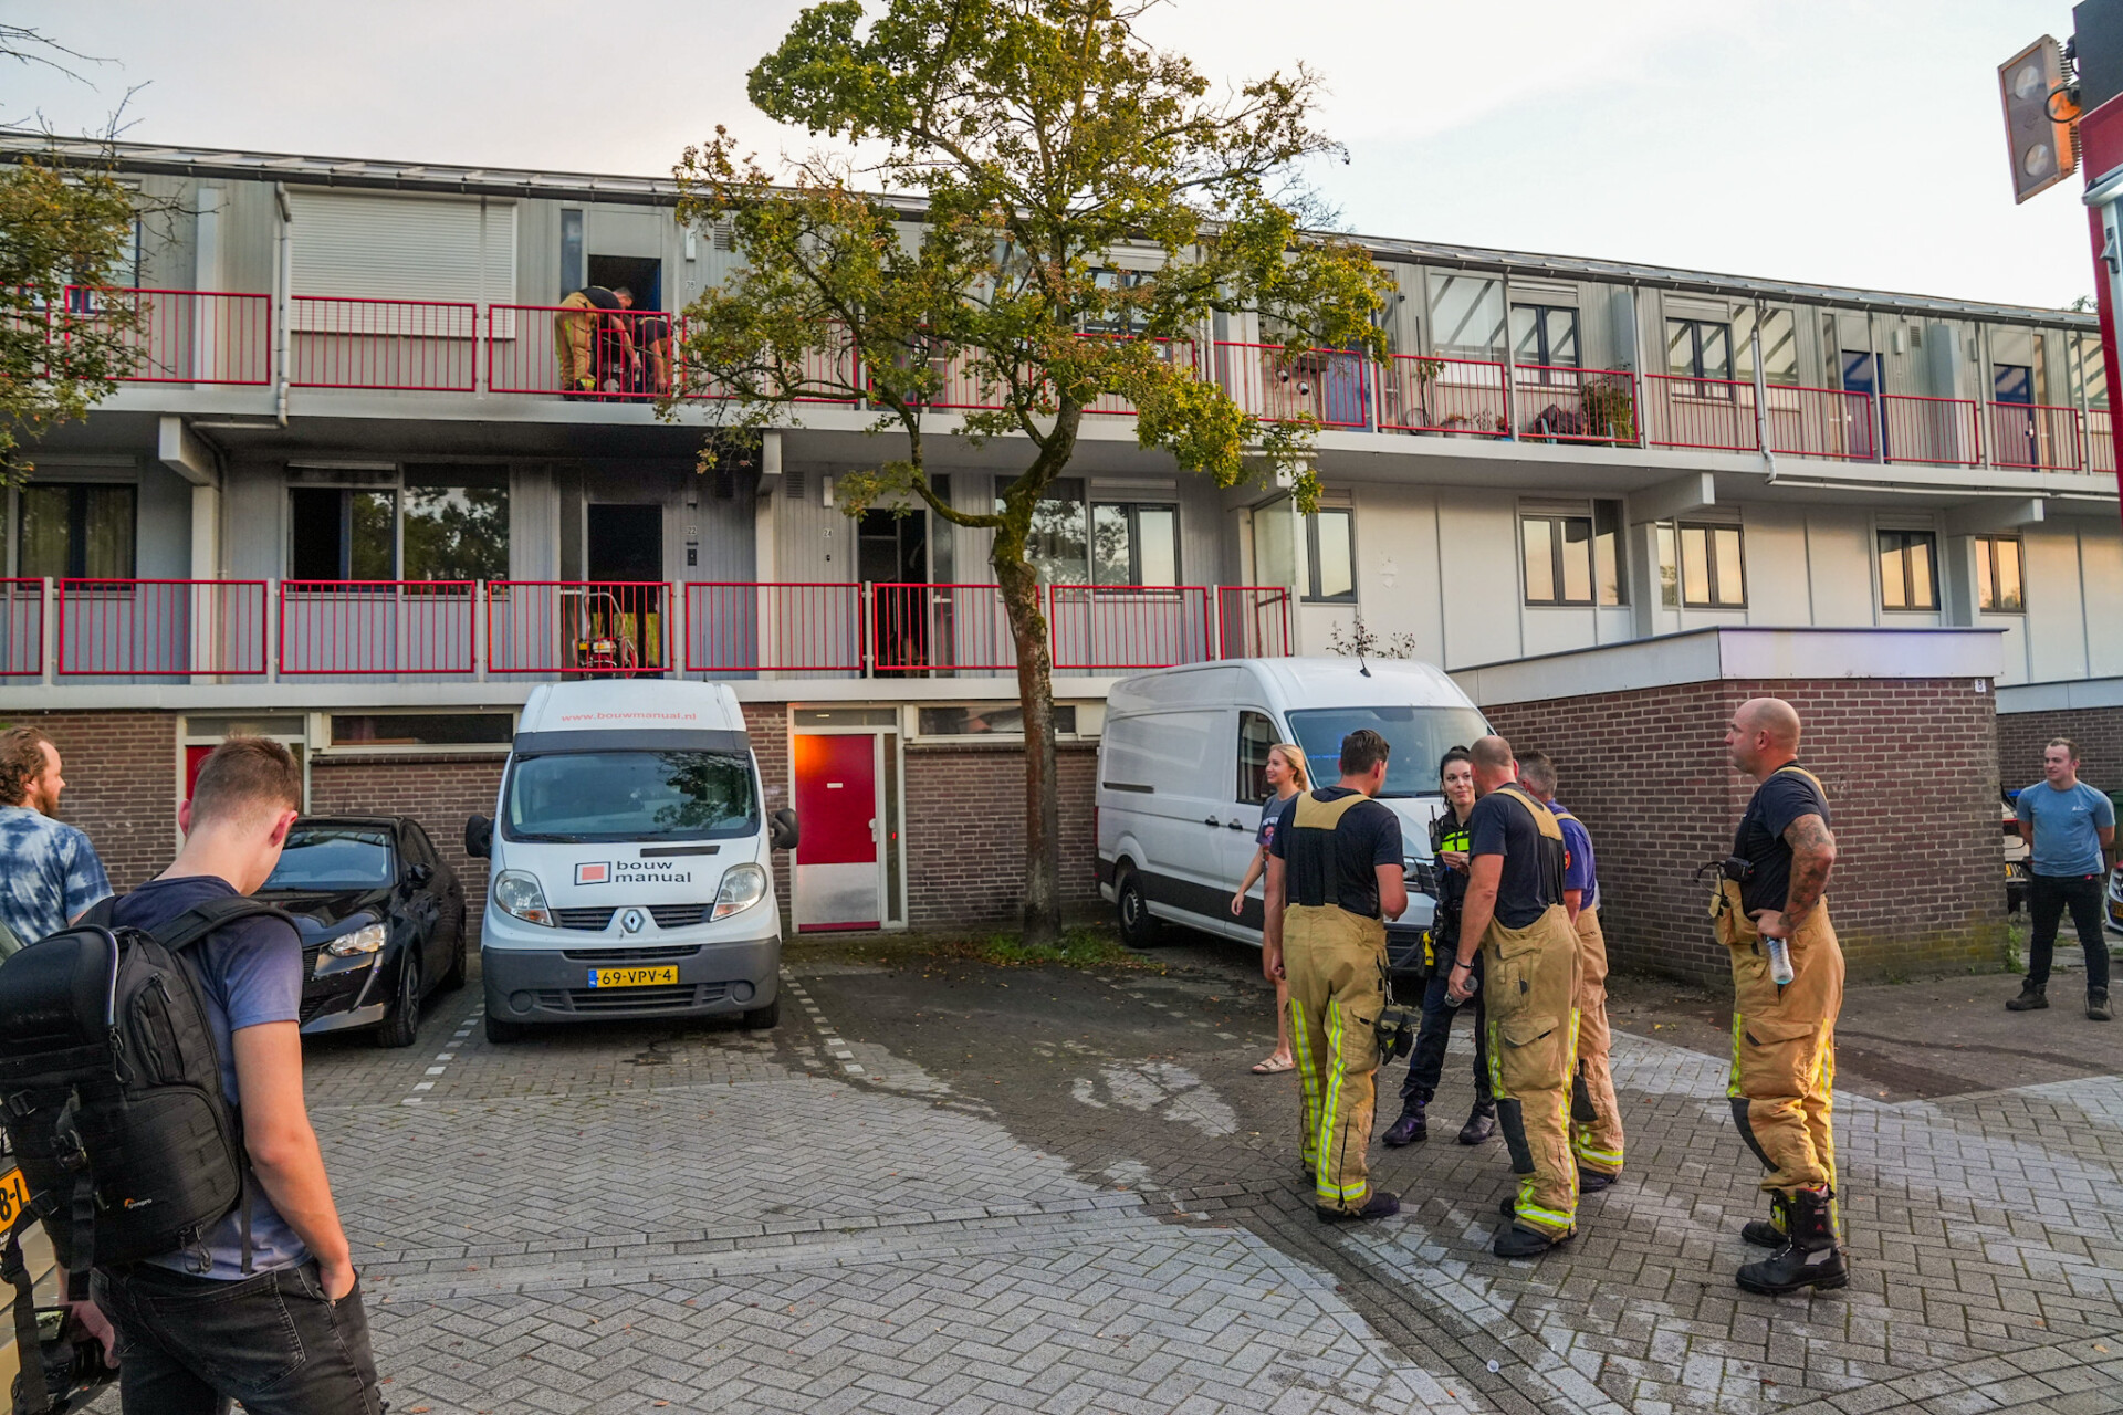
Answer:
M2013 1012L2049 1006L2049 955L2057 946L2057 921L2072 910L2078 946L2087 953L2087 1016L2106 1023L2108 940L2102 938L2102 876L2106 851L2117 842L2117 808L2104 793L2078 779L2078 747L2059 736L2042 749L2042 781L2019 793L2019 838L2027 842L2027 980Z

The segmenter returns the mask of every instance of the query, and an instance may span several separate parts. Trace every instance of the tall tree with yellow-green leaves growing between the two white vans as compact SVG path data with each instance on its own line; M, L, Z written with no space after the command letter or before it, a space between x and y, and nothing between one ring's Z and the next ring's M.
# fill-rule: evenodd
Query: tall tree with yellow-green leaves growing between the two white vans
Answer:
M728 221L743 255L686 312L684 392L724 399L743 426L860 399L898 454L839 479L845 513L926 505L994 532L1025 721L1032 942L1059 933L1062 910L1053 656L1028 543L1085 412L1127 399L1142 448L1219 486L1282 471L1310 509L1316 424L1265 424L1199 378L1199 331L1255 310L1289 359L1384 346L1386 278L1304 231L1316 208L1297 170L1340 151L1312 125L1318 81L1299 68L1212 95L1138 34L1155 2L815 4L747 91L841 149L766 170L718 127L677 168L681 219ZM981 390L964 435L1011 458L994 511L930 482L947 380Z

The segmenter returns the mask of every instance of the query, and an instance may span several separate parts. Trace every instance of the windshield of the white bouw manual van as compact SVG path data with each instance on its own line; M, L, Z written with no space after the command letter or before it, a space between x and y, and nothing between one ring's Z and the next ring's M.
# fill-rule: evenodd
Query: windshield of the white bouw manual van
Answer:
M720 751L569 751L518 757L507 840L715 840L758 829L752 762Z

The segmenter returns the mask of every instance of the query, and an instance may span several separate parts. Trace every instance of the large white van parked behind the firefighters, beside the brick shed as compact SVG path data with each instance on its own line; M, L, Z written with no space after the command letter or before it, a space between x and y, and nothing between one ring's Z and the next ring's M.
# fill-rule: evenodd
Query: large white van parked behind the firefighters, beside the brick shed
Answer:
M1231 895L1270 798L1267 749L1297 743L1312 785L1327 787L1342 779L1342 736L1357 728L1393 743L1380 800L1401 817L1408 912L1386 938L1405 965L1435 908L1437 757L1488 732L1444 670L1405 660L1242 658L1115 683L1098 745L1098 889L1121 936L1149 946L1159 921L1172 921L1257 946L1261 885L1238 916Z

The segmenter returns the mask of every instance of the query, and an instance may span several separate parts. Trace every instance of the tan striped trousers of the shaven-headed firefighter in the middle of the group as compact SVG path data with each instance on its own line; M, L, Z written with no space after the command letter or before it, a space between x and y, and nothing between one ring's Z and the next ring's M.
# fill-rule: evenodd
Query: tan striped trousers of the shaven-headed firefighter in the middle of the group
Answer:
M1488 1067L1497 1122L1518 1175L1516 1218L1552 1239L1577 1226L1571 1078L1577 1067L1577 936L1554 904L1524 929L1482 938Z

